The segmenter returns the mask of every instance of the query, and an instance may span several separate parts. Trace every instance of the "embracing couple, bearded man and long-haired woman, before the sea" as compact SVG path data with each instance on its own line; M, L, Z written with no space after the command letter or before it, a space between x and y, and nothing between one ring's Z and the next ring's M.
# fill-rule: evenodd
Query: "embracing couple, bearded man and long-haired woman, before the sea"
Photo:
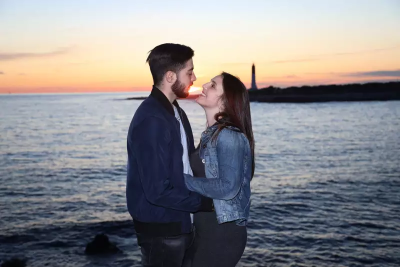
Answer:
M176 98L196 80L193 50L164 43L146 62L154 85L127 134L126 202L143 266L235 266L247 240L254 138L244 84L222 72L196 102L207 128L194 147Z

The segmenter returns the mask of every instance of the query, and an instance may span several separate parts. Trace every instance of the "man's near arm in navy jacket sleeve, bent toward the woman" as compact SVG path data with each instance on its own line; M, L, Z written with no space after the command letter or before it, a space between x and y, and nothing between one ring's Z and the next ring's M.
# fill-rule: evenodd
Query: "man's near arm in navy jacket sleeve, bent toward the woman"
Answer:
M150 116L140 123L128 145L136 154L141 185L148 202L183 211L211 210L207 197L187 188L174 187L169 181L171 160L166 123ZM183 173L181 174L183 180Z

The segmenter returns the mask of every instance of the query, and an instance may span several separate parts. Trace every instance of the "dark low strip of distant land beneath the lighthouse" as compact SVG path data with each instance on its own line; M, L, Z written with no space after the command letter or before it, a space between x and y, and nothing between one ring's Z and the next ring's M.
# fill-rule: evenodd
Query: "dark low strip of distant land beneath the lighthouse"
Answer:
M249 89L248 95L250 101L253 102L275 103L400 100L400 81L304 85L286 88L269 86L260 89ZM195 99L197 96L198 94L190 94L186 99ZM145 98L128 97L126 99Z

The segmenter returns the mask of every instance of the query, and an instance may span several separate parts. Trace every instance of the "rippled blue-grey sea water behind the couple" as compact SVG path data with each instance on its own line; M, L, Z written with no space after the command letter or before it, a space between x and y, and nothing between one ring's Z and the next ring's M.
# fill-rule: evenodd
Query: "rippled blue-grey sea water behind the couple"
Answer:
M0 95L0 261L139 266L125 204L132 95ZM197 142L203 111L179 103ZM237 266L399 266L400 101L251 112L256 166ZM86 256L97 233L122 252Z

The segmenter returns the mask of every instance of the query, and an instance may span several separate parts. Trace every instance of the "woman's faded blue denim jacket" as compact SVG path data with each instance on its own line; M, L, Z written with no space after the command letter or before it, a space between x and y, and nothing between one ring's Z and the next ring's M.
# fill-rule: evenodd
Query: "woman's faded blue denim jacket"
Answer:
M199 155L206 177L184 174L189 190L213 198L218 223L247 225L250 210L251 150L248 139L234 127L223 128L213 140L217 125L201 133Z

